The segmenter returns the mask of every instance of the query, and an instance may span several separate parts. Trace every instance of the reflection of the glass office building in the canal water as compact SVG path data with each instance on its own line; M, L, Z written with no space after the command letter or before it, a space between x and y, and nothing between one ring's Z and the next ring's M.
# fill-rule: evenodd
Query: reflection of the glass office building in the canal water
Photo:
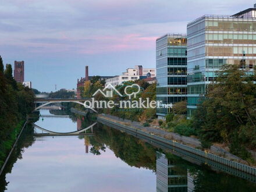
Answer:
M166 158L157 152L157 191L185 192L193 191L193 176L186 168L176 166L175 158Z

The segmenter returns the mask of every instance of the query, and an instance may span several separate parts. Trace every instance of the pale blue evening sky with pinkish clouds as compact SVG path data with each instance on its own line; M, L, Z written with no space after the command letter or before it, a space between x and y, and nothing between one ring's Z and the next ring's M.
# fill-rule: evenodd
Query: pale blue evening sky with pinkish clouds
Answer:
M76 88L86 65L90 76L115 76L134 65L155 67L158 37L186 33L187 23L202 15L233 15L254 3L2 0L0 55L4 63L24 61L25 81L32 81L33 88Z

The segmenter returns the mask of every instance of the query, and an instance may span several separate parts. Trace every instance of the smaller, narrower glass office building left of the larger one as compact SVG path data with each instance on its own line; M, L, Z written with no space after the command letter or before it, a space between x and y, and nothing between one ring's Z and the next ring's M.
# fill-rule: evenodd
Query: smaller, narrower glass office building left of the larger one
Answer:
M173 104L186 100L187 38L186 34L166 34L157 39L157 100ZM157 108L159 119L170 111Z

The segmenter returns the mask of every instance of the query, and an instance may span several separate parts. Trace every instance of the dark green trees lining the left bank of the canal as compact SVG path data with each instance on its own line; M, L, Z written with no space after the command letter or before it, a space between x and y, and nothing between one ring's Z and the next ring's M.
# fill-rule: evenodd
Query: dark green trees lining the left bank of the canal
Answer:
M15 141L15 130L34 109L34 93L12 76L12 65L0 56L0 167ZM18 133L16 133L18 134ZM14 135L14 136L13 136Z

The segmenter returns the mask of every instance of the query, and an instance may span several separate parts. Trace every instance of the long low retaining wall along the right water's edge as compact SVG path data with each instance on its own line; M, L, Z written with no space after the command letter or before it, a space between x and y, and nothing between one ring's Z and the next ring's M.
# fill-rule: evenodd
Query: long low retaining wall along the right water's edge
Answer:
M245 179L253 180L254 182L256 182L256 168L253 168L251 166L236 161L231 161L223 157L219 157L218 155L211 154L207 151L198 150L197 148L178 143L176 140L168 140L164 137L159 137L155 134L147 133L147 131L141 130L138 127L136 128L134 126L130 126L128 125L128 123L127 125L124 125L125 123L121 119L119 122L116 119L109 118L108 115L99 115L98 122L107 126L114 127L115 129L126 131L127 133L131 133L134 136L144 138L145 140L148 140L150 142L158 143L159 145L165 146L166 148L171 148L173 150L179 151L181 154L190 155L191 157L193 156L193 158L201 159L201 162L205 162L205 159L207 159L207 163L209 165L214 165L214 163L217 163L219 169L224 171L226 170L226 172L229 172L232 175L241 176L241 172L246 173L246 175L243 176Z

